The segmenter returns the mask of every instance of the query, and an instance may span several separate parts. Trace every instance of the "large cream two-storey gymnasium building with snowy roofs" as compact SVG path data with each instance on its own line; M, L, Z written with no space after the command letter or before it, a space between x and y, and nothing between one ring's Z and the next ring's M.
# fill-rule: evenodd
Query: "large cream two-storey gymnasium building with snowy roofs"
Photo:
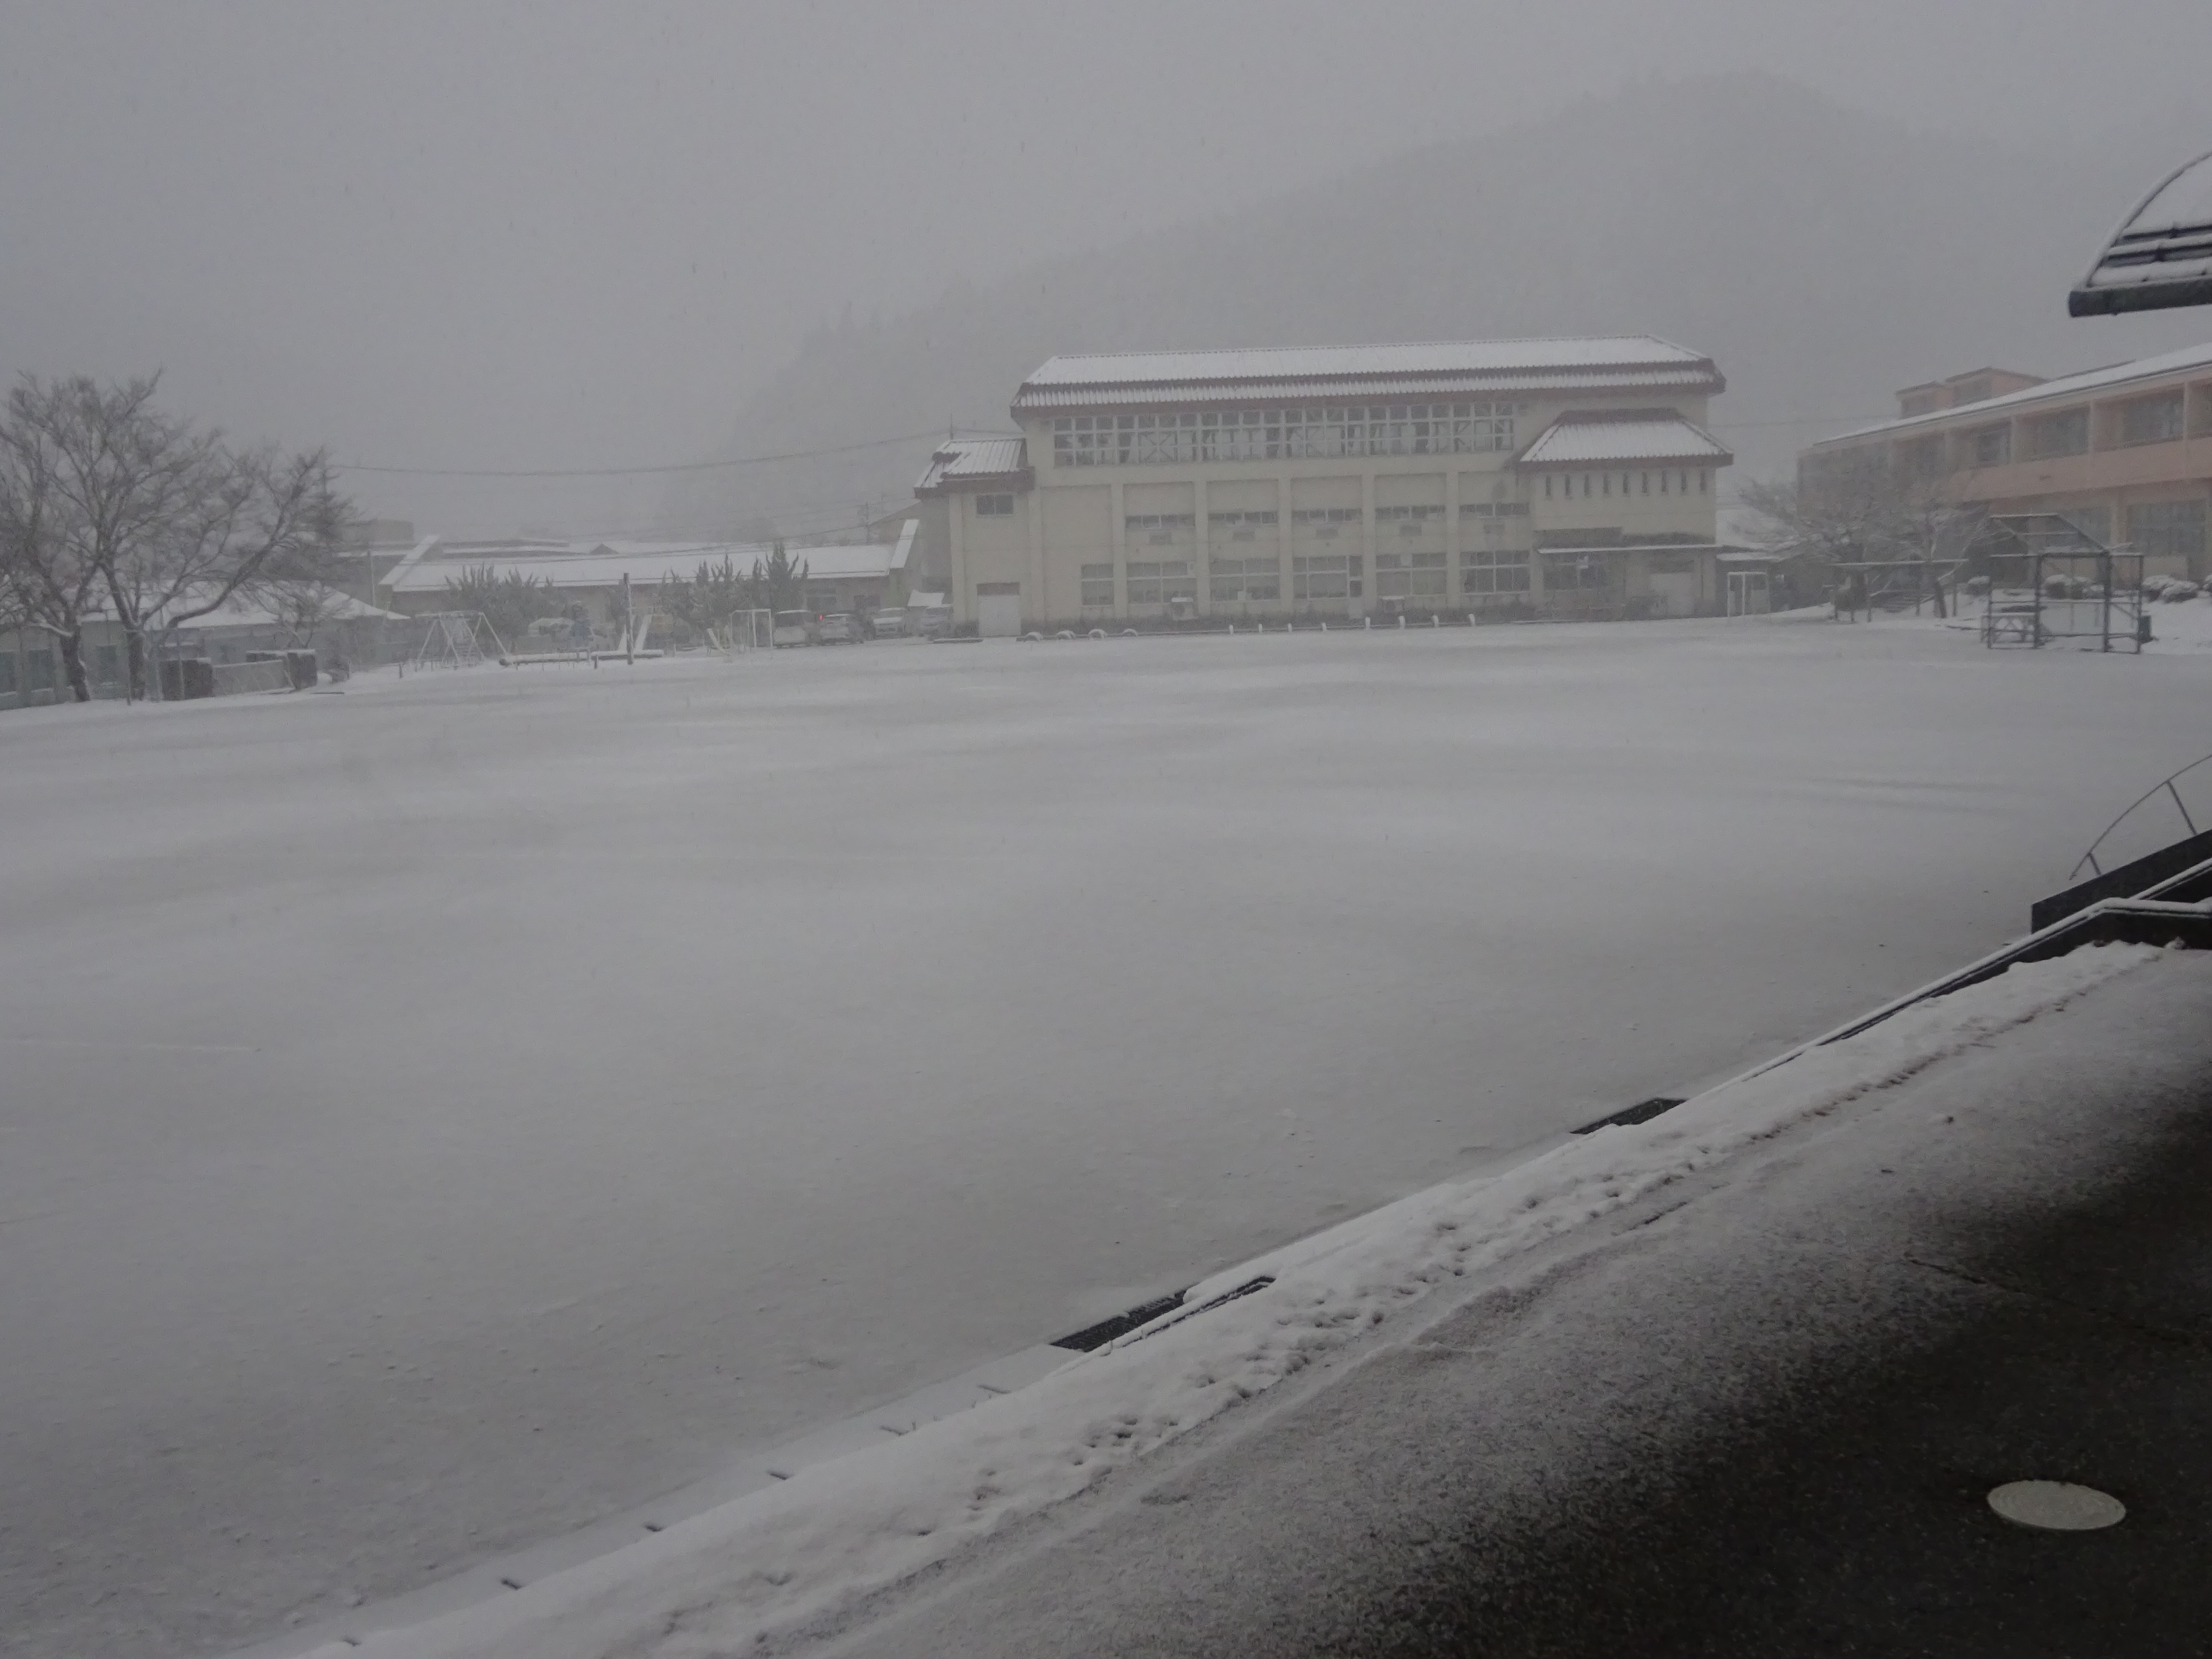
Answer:
M993 635L1763 611L1714 542L1723 387L1650 336L1055 356L916 495Z

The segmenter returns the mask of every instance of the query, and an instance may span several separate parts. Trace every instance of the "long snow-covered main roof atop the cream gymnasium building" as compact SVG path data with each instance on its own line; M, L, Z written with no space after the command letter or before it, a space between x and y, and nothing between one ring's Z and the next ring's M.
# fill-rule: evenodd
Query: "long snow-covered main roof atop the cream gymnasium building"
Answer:
M1650 334L1425 345L1272 345L1241 352L1055 356L1015 411L1099 405L1387 398L1416 394L1668 387L1721 392L1710 356Z

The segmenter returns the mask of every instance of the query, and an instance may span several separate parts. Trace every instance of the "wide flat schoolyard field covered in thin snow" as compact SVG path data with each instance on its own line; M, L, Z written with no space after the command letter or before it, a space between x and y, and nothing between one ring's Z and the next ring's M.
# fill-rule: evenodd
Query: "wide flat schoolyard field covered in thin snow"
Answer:
M885 644L0 717L0 1630L221 1650L2024 929L2212 655Z

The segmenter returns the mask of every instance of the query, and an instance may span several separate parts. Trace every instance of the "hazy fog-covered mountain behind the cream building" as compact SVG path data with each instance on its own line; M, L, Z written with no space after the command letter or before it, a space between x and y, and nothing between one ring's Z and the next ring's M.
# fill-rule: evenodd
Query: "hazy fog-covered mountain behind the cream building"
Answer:
M1053 352L1650 332L1721 363L1714 420L1741 480L1891 414L1913 380L1982 363L2057 374L2201 338L2212 321L2188 312L2066 316L2097 239L2185 146L2031 155L1763 75L1644 84L825 330L739 411L723 453L1006 429L1015 385ZM960 199L949 184L947 212ZM900 500L927 449L701 476L670 526L852 522L863 498Z

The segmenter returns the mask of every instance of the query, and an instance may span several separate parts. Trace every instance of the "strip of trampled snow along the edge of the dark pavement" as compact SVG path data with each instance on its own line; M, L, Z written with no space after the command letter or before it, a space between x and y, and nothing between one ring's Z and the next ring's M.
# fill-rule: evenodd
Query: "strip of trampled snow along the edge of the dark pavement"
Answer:
M1736 1079L1641 1126L1575 1139L1491 1179L1442 1183L1243 1263L1274 1283L1117 1340L1022 1394L555 1575L500 1601L372 1637L387 1659L604 1659L743 1652L953 1557L1015 1520L1387 1325L1440 1285L1509 1261L1745 1148L1907 1082L2090 987L2159 960L2088 947L1916 1004L1856 1037ZM1199 1287L1194 1301L1214 1285Z

